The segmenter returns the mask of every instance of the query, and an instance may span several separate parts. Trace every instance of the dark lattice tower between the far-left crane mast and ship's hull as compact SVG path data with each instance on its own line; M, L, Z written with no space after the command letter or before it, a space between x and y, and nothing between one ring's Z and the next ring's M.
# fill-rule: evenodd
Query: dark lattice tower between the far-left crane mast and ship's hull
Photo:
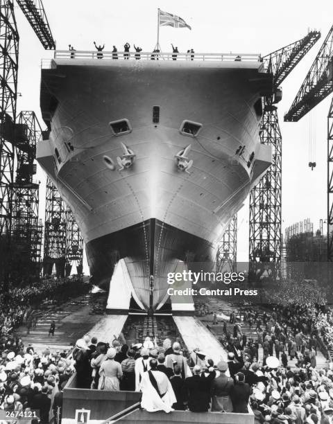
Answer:
M13 188L12 261L11 275L26 276L40 273L42 223L38 219L39 184L36 173L36 143L42 129L35 112L20 112L15 127L17 172Z

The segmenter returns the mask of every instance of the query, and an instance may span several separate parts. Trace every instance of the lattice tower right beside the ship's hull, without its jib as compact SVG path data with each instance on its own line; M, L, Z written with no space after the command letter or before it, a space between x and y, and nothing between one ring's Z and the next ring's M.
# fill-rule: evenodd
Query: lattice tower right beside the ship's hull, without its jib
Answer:
M256 263L281 260L282 136L277 107L271 99L264 105L260 142L272 146L272 164L250 191L250 271Z

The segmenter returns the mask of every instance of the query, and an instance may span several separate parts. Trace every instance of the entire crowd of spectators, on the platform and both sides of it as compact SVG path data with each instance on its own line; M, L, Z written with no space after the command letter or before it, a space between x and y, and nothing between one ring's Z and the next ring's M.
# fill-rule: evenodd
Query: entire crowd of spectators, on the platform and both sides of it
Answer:
M80 388L141 391L148 412L253 412L256 424L333 422L333 364L316 366L321 338L333 340L333 313L319 304L232 312L220 339L226 356L214 363L202 346L187 351L182 339L128 345L122 333L110 344L85 335L71 353L35 352L15 336L27 310L24 293L12 294L10 304L0 298L0 409L39 410L42 424L59 420L62 389L76 371Z

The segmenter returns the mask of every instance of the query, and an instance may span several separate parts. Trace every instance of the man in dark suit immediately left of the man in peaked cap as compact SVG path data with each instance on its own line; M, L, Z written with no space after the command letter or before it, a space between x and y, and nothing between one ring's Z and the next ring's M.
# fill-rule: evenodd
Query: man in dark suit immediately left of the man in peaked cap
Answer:
M185 398L191 412L207 412L210 407L208 387L215 377L215 372L212 371L208 377L200 374L200 365L195 365L193 376L187 377L184 383Z

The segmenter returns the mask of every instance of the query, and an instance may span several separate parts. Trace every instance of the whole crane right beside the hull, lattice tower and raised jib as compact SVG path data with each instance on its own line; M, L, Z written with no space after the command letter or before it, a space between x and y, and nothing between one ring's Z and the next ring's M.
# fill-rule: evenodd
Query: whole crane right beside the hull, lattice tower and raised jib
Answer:
M263 62L273 74L273 94L263 100L262 125L259 130L262 144L272 146L272 164L259 183L250 191L249 276L258 270L258 263L272 263L273 274L281 260L281 181L282 136L275 106L282 98L280 84L314 46L321 34L311 31L302 39L284 46Z

